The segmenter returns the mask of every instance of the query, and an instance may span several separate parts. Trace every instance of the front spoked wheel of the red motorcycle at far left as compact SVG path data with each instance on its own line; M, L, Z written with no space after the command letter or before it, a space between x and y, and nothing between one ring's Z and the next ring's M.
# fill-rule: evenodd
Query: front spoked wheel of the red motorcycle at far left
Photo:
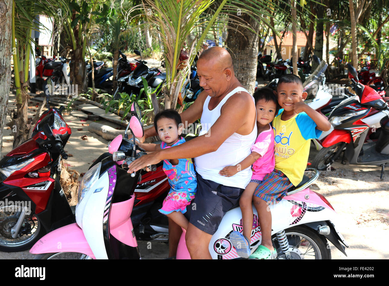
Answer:
M30 249L46 231L34 213L28 214L16 238L12 228L18 222L21 206L8 205L0 208L0 251L14 252Z

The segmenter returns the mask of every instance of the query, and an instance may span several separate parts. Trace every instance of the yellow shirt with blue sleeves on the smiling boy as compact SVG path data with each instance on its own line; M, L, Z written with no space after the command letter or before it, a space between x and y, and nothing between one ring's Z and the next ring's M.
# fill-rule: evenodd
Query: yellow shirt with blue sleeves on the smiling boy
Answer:
M301 112L289 120L282 120L281 109L273 119L275 169L283 172L294 186L300 184L307 168L310 139L322 131L307 113Z

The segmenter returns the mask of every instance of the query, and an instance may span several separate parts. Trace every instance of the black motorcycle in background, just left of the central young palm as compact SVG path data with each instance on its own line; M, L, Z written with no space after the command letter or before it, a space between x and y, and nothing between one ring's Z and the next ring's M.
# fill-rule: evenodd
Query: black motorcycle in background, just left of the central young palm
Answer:
M140 52L134 50L134 53L141 56ZM161 88L161 83L166 80L166 73L161 72L158 68L148 68L146 61L135 60L137 61L137 67L128 73L121 72L121 75L118 76L117 89L114 92L113 98L115 100L119 99L120 95L118 93L125 92L128 95L139 94L140 89L143 88L142 77L147 81L148 86L153 89L156 89L159 86Z

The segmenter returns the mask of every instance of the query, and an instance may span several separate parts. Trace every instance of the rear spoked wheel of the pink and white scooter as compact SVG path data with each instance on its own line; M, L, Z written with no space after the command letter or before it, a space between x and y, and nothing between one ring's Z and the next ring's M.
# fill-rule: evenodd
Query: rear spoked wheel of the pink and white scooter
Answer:
M289 243L291 259L331 259L331 249L327 239L306 226L294 226L285 230ZM272 237L277 249L277 259L288 259L277 242L277 237Z

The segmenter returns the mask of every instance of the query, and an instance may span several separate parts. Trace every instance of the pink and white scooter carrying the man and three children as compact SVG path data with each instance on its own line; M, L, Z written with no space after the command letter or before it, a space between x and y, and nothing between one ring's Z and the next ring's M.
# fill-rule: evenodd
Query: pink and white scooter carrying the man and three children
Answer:
M134 143L135 137L142 137L144 130L136 103L131 106L131 113L133 116L127 129L130 129L133 140L117 137L117 141L111 142L112 157L103 159L89 169L81 181L75 211L76 223L54 230L37 242L30 250L32 254L40 254L35 259L140 258L131 212L137 181L144 171L131 175L126 171L132 161L145 154ZM155 165L149 168L156 170ZM311 178L305 176L279 204L270 206L272 238L278 259L304 259L311 256L329 259L331 250L327 240L346 254L345 247L348 245L335 226L336 212L326 198L308 188L317 179L319 172L315 169L308 169L307 172L314 175ZM252 252L261 243L261 228L254 207L253 211ZM229 235L233 230L242 231L241 219L240 208L228 211L223 217L209 244L212 258L238 258ZM58 241L61 242L60 252ZM177 248L177 259L186 258L190 256L183 232Z

